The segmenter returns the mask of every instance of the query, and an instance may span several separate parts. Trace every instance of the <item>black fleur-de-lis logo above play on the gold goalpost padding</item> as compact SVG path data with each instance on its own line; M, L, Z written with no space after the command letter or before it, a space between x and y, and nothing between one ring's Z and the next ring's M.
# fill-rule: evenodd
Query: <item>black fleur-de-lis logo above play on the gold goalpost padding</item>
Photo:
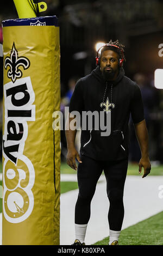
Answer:
M24 69L28 69L30 66L29 59L26 57L18 57L15 44L12 45L10 57L6 57L4 60L4 68L7 69L8 66L8 77L11 78L12 82L22 77L22 71L19 69L20 66L23 66Z

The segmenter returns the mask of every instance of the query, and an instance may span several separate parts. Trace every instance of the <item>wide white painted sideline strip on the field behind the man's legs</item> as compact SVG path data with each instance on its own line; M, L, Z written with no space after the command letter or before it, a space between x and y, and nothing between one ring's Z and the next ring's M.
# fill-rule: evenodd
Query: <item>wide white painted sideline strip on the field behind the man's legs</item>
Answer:
M61 180L65 179L66 176L65 178L62 176ZM76 175L70 175L68 179L75 181ZM85 238L86 245L92 245L109 236L109 201L103 175L100 180L103 182L98 183L91 203L91 218ZM163 210L163 199L158 196L160 185L163 185L162 176L147 176L143 179L141 175L127 176L124 187L125 214L122 229L146 220ZM74 206L77 196L78 190L61 194L60 245L71 245L74 242Z

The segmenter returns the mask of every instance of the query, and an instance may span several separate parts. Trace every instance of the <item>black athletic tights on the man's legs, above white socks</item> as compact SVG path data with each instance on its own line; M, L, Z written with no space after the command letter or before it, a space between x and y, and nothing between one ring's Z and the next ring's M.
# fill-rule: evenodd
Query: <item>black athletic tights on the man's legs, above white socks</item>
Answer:
M123 190L127 167L128 159L96 161L82 156L82 163L78 164L79 194L75 209L76 224L89 222L91 200L96 190L97 181L104 170L107 184L106 191L110 202L108 212L109 228L116 231L121 230L124 217Z

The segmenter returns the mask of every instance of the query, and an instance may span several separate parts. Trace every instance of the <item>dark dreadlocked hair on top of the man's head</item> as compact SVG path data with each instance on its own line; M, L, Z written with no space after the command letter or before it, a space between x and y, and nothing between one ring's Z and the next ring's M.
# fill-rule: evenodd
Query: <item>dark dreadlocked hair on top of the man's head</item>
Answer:
M126 58L124 56L124 47L125 47L124 45L120 44L118 40L116 40L114 42L112 40L110 40L107 44L108 44L107 46L104 46L102 48L101 54L106 50L112 50L112 51L118 53L118 55L120 56L120 59L122 59L122 57L123 57L124 61L126 61ZM119 48L117 48L115 46L109 46L109 45L116 45ZM123 52L123 54L122 54L122 52Z

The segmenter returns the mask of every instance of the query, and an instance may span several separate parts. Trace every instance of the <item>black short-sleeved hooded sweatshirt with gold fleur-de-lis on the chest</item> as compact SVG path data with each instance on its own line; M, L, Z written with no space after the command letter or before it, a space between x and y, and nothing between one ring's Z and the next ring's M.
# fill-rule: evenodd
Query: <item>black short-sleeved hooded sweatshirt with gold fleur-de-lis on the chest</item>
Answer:
M107 97L115 105L110 108L111 133L101 136L101 130L96 130L94 126L82 129L80 155L95 160L127 159L130 113L134 124L144 119L144 113L140 88L124 75L123 68L120 68L115 81L104 81L99 66L90 75L80 78L71 97L69 112L78 111L81 116L82 111L100 113L104 111L101 103L106 102Z

